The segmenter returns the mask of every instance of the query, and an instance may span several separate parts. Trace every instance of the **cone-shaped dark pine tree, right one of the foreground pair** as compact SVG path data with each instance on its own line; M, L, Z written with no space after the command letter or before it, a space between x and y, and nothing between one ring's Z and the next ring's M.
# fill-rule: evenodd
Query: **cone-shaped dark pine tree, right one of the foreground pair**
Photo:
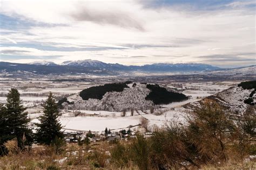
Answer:
M38 130L36 139L39 144L50 145L56 138L64 138L64 134L61 131L62 126L58 121L58 117L58 106L50 92L48 99L44 104L44 114L39 117L41 123L37 124Z

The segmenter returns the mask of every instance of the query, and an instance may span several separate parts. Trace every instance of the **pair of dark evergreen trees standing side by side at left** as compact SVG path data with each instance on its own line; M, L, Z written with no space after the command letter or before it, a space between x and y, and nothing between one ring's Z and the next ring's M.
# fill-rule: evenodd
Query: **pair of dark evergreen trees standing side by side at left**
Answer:
M5 143L16 140L20 151L29 149L33 143L56 145L62 143L64 134L58 122L58 106L52 93L44 103L44 114L38 119L36 132L29 128L28 112L22 105L17 89L10 89L6 96L6 103L0 105L0 155L8 153ZM56 150L57 151L57 150Z

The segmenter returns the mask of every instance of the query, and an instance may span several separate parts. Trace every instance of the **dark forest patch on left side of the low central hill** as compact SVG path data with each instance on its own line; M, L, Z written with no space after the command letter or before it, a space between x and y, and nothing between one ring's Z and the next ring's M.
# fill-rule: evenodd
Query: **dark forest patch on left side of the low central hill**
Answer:
M110 91L123 91L124 88L129 88L127 84L131 83L131 81L123 82L123 83L111 83L104 84L103 86L95 86L84 89L80 92L79 96L83 98L83 100L88 100L89 98L96 98L101 100L105 93Z

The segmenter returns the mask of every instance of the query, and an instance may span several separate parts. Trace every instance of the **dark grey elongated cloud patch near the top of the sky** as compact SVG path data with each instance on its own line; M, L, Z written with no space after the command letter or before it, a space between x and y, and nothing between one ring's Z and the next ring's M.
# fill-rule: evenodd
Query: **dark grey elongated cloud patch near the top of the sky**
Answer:
M78 8L76 12L71 13L70 16L78 21L89 21L97 24L111 24L145 31L143 25L139 23L138 20L120 11L97 11L87 9L83 6Z

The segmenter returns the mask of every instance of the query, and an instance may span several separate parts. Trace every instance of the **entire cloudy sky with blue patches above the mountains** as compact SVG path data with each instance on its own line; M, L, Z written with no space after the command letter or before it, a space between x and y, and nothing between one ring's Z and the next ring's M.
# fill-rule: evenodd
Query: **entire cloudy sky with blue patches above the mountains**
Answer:
M0 61L256 65L256 1L0 0Z

